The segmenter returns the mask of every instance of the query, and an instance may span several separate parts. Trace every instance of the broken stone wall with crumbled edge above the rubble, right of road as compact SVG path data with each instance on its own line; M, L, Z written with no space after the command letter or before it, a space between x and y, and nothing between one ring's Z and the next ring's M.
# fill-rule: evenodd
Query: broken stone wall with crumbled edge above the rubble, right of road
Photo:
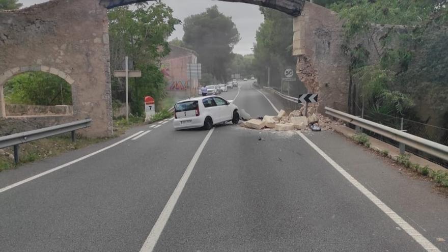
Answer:
M310 93L319 94L320 113L325 106L347 111L350 59L341 50L342 24L337 13L309 2L294 18L297 75Z

